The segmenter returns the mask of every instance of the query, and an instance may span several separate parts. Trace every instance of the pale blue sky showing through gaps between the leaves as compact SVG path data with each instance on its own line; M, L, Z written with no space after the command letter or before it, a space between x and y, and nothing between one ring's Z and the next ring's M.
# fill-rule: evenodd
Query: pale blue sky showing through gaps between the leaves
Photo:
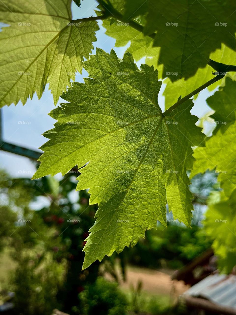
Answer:
M97 2L94 0L87 0L81 2L81 8L78 8L74 2L72 2L72 17L74 20L80 18L86 18L94 16L94 9L97 6ZM115 39L105 35L105 29L102 27L102 22L99 21L100 30L96 32L97 42L93 43L95 54L96 48L104 49L110 53L111 49L114 49L119 58L123 57L129 44L125 47L115 47ZM145 59L137 62L138 67L144 63ZM78 73L76 75L77 82L83 82L83 77L87 76L87 72L83 70L82 75ZM165 98L161 95L164 90L160 91L158 103L162 109L164 109ZM194 101L194 107L191 111L192 114L201 117L204 113L208 112L210 108L207 106L205 100L211 96L214 91L209 92L207 89L199 94L199 97ZM63 102L59 99L59 103ZM2 109L3 116L3 140L24 146L30 149L38 150L47 139L42 136L42 133L53 128L55 120L48 116L48 113L55 108L53 103L53 96L51 91L48 90L48 85L45 88L40 100L38 100L35 94L32 100L28 100L23 106L21 102L14 106L4 106ZM5 169L9 175L14 178L18 177L32 177L36 171L35 163L29 160L27 157L21 157L19 155L0 151L0 167Z

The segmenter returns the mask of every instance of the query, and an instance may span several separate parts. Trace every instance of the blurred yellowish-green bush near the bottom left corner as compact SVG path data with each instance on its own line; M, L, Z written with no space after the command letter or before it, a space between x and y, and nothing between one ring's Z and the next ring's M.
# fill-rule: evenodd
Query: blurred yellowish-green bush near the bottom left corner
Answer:
M56 294L63 285L66 261L53 260L48 252L40 261L25 255L14 274L14 314L49 315L53 308L61 308Z

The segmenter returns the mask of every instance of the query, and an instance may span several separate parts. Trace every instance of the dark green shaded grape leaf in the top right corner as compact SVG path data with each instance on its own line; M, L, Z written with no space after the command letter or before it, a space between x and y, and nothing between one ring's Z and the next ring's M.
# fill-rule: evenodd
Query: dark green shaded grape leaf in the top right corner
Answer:
M156 32L159 62L171 81L193 76L224 43L235 50L236 2L221 0L126 0L126 18L146 14L144 34ZM177 74L176 74L177 73Z

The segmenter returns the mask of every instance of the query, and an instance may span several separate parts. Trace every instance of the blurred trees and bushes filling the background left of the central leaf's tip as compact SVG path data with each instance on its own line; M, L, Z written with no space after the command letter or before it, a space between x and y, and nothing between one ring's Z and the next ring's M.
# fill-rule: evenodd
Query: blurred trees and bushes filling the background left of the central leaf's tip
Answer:
M15 292L16 314L47 315L55 307L81 313L79 293L98 277L98 262L81 271L96 206L89 206L87 192L75 189L72 174L58 182L51 177L10 179L1 172L1 249L8 247L16 262L10 283L2 289ZM37 211L32 211L32 201ZM114 259L106 266L115 277Z

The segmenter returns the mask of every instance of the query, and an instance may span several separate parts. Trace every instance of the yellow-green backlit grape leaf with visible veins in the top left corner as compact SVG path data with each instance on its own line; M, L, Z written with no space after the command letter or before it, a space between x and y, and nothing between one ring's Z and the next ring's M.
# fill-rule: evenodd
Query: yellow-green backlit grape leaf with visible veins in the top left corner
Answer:
M96 41L96 21L71 23L71 0L2 0L0 106L42 96L46 83L54 103L82 71Z

